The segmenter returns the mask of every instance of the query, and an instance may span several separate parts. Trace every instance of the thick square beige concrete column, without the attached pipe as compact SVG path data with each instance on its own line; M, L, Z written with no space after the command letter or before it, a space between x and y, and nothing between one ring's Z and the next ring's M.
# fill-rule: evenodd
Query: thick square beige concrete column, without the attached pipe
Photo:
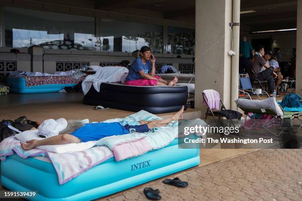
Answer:
M195 107L202 111L202 91L214 89L230 108L232 0L195 0Z

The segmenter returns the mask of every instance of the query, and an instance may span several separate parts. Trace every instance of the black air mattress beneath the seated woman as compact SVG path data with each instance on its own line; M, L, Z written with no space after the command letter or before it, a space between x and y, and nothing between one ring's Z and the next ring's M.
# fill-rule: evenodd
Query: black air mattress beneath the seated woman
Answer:
M100 92L92 86L83 102L128 111L146 110L153 114L175 112L182 105L187 109L187 86L128 86L116 83L102 83Z

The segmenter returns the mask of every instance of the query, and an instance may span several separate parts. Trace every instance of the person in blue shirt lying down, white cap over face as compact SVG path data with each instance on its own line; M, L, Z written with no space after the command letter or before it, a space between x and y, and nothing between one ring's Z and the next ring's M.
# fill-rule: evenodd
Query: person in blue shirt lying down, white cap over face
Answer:
M155 127L167 126L172 121L180 119L184 112L184 106L169 118L153 121L139 121L140 125L129 126L128 124L122 126L118 122L112 123L88 123L82 127L71 132L71 134L59 134L60 131L65 131L67 121L63 118L58 120L47 119L39 126L39 136L47 137L42 140L32 139L26 141L27 143L20 142L21 147L25 150L30 150L40 145L58 145L67 143L79 143L93 140L99 140L103 137L112 135L123 135L130 133L145 133Z

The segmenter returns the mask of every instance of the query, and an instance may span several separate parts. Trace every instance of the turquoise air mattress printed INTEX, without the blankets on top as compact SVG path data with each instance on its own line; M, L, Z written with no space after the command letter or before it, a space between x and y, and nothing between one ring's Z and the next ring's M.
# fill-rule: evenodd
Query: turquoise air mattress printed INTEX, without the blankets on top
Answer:
M196 138L195 135L190 135ZM199 164L199 147L181 149L178 139L144 155L115 162L114 158L59 185L53 165L14 154L1 162L1 185L12 191L37 191L35 201L88 201L149 182Z

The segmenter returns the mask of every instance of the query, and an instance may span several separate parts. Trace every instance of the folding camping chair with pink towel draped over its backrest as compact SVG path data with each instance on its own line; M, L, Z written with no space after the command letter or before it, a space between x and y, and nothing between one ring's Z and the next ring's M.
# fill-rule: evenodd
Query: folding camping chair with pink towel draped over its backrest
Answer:
M221 108L220 108L220 110L212 110L213 109L213 107L211 108L211 106L210 106L210 104L209 104L209 102L212 102L215 98L213 97L213 96L209 96L209 94L208 93L211 93L211 92L213 92L213 93L215 93L215 95L216 95L216 99L218 100L219 99L219 102L221 103ZM202 97L203 97L203 102L204 103L206 103L206 105L207 105L207 111L206 111L206 113L205 113L205 119L207 119L207 117L208 116L212 116L213 118L214 118L214 121L215 121L215 123L216 123L216 125L218 126L218 127L220 127L221 126L221 122L220 122L220 120L221 120L221 117L225 117L225 118L227 118L226 117L226 115L225 114L223 114L223 113L221 113L221 111L222 110L227 110L226 109L226 107L225 107L225 105L224 105L224 103L223 103L223 101L220 99L220 95L219 95L219 93L217 92L217 91L215 91L215 90L204 90L203 92L202 92ZM208 97L209 99L211 99L211 100L208 100L206 97ZM219 106L218 106L219 107ZM217 108L216 108L217 109ZM230 110L231 111L231 110ZM217 119L218 118L218 119ZM241 118L241 117L240 117ZM230 122L231 122L231 124L235 127L235 125L234 125L234 122L231 120L231 119L229 119L230 120Z

